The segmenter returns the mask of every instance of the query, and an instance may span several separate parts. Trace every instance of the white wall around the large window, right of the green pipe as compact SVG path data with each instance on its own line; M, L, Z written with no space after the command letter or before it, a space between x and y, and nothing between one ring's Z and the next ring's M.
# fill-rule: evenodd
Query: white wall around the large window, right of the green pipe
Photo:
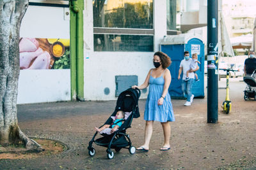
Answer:
M84 1L84 99L113 100L117 75L137 75L141 85L153 66L154 52L94 52L93 51L93 4ZM166 35L166 1L154 1L154 50ZM104 94L108 87L110 93ZM141 98L147 93L141 94Z

